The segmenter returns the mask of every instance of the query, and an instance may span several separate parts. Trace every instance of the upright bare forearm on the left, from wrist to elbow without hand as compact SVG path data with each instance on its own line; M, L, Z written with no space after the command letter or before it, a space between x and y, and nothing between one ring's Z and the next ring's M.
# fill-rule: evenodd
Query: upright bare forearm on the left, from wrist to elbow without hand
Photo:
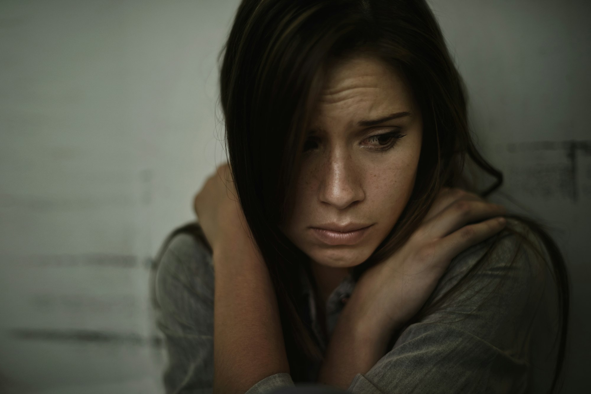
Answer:
M267 376L289 372L268 269L250 239L229 239L213 251L213 389L223 394L244 393Z

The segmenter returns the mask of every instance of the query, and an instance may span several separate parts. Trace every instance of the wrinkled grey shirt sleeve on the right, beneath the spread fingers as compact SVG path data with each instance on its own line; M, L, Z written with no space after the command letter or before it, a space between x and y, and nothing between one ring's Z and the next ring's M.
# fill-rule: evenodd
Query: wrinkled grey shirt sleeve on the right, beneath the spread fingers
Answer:
M376 365L353 378L350 392L527 392L532 322L550 271L517 236L501 237L490 264L472 271L468 288L404 329ZM488 245L457 255L430 300L457 283Z

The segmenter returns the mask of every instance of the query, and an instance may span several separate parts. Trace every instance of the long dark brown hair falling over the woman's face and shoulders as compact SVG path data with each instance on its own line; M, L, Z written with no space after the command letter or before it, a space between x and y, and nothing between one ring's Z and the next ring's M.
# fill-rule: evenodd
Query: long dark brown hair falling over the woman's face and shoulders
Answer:
M361 51L378 56L404 75L423 115L423 146L410 201L374 254L355 267L356 279L407 241L441 188L460 186L486 197L502 183L502 173L480 156L472 142L465 86L424 0L243 0L220 52L221 104L236 191L273 278L295 381L303 379L307 357L322 354L303 324L295 295L294 278L298 268L309 270L309 259L285 237L279 224L293 206L304 130L327 67L330 61ZM466 157L496 182L477 191L463 171ZM506 216L526 224L543 240L553 265L561 321L554 390L569 317L564 259L543 226L524 216ZM461 292L466 281L467 277L460 280L446 297L408 323Z

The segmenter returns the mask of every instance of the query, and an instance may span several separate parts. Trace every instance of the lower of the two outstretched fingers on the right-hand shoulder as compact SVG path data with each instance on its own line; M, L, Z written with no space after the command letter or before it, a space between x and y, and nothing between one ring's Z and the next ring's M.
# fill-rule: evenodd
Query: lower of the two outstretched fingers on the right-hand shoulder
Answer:
M497 234L505 228L506 219L500 216L463 226L437 242L437 249L450 261L462 251Z

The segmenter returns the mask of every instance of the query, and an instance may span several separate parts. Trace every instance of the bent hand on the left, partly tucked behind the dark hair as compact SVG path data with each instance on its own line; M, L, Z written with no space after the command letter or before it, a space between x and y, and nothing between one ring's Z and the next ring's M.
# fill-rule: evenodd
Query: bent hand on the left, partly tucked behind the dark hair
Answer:
M228 163L220 165L207 178L194 198L193 209L213 249L218 247L223 238L251 235L238 202Z

